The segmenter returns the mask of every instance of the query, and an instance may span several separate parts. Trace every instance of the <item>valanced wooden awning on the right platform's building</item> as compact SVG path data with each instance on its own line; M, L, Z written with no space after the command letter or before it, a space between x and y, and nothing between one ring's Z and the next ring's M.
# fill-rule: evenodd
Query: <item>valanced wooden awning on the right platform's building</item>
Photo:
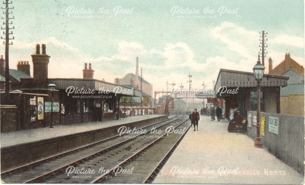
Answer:
M286 87L289 77L264 74L261 87ZM220 69L214 91L217 92L222 86L225 87L257 87L254 74L243 71Z

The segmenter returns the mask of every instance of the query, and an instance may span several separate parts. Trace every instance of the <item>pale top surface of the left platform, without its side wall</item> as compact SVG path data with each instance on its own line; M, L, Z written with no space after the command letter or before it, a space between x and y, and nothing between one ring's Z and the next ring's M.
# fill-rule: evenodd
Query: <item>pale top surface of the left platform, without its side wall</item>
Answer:
M160 116L163 115L131 116L128 118L120 118L119 120L108 120L104 122L86 122L70 125L54 125L54 128L42 127L27 130L18 130L13 132L3 132L0 135L1 147L39 141L43 139L50 139L53 137L70 135L79 132L86 132L100 128L123 125L126 123L141 121L149 118L156 118Z

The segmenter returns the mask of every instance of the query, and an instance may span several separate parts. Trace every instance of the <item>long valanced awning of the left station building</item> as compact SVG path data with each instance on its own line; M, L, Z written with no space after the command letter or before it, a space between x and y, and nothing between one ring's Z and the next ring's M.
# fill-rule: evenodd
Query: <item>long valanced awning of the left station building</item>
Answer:
M117 84L112 84L105 81L100 81L96 79L81 79L81 78L52 78L48 79L48 81L52 81L56 84L56 89L66 90L66 88L73 86L81 89L94 89L95 91L99 91L100 88L104 87L104 90L109 90L111 93L116 93L125 96L139 96L141 97L141 91L132 90L129 87L124 87Z

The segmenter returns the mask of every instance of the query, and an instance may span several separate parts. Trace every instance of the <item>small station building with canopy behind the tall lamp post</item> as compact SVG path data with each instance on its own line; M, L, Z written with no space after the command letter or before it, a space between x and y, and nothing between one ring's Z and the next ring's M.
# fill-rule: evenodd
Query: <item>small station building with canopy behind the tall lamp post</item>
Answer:
M280 113L280 89L287 86L289 77L266 74L260 82L260 110L262 112ZM222 93L218 90L226 87L237 93ZM254 74L236 70L220 69L214 87L215 97L223 99L225 118L229 118L231 109L238 109L243 116L247 111L257 109L257 81Z

